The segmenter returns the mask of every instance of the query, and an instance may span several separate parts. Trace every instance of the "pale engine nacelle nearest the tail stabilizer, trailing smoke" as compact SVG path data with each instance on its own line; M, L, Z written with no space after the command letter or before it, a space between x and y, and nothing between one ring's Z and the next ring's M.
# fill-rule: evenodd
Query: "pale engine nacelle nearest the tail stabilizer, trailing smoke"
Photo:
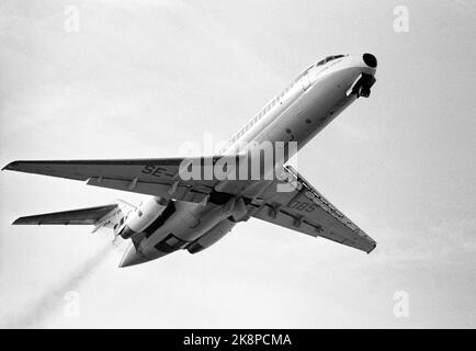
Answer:
M123 227L120 235L124 239L131 238L137 233L143 233L154 220L159 217L169 204L169 200L162 197L151 197L140 203L135 210L129 212L123 219Z

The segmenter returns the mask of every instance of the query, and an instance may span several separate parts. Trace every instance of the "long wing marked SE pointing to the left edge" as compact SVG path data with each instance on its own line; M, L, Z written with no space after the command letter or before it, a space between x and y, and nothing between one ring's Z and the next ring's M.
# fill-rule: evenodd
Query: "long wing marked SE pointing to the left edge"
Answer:
M217 159L218 157L188 158L186 162L201 162L203 171L205 165ZM183 160L183 158L159 158L14 161L3 169L80 180L86 181L88 185L199 203L207 197L218 181L213 179L183 181L179 177ZM201 177L201 179L206 178Z

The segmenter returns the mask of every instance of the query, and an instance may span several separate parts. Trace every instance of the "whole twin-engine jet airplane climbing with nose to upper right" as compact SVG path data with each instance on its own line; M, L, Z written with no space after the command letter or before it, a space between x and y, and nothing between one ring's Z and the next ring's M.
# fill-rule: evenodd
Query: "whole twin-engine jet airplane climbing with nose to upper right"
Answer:
M214 166L224 157L245 162L242 155L249 150L240 145L293 141L295 150L287 147L271 165L284 177L182 179L184 158L13 161L3 170L148 195L138 206L118 200L104 206L20 217L13 225L93 225L93 231L112 228L115 237L131 239L120 267L181 249L200 252L251 217L370 253L376 241L285 163L352 102L370 97L376 68L377 59L369 53L328 56L272 99L220 155L191 159L202 166ZM263 167L264 171L269 173L270 167ZM293 186L279 191L280 184Z

